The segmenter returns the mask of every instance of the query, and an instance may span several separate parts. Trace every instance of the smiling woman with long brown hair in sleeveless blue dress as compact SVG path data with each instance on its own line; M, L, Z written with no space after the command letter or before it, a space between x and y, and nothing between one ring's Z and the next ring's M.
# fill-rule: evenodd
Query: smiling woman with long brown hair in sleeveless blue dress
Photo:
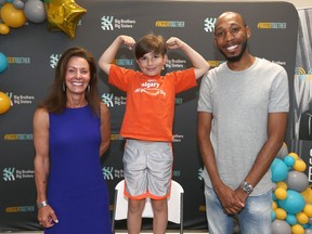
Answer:
M109 112L98 95L94 57L70 48L34 115L37 218L44 234L112 233L100 161L109 139Z

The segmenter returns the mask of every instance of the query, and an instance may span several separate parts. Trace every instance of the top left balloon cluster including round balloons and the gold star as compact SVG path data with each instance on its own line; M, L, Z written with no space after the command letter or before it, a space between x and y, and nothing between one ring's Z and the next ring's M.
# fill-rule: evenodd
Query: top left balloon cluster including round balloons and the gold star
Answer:
M75 0L0 0L0 35L18 28L27 21L42 23L48 20L49 30L62 30L75 38L76 26L87 10Z

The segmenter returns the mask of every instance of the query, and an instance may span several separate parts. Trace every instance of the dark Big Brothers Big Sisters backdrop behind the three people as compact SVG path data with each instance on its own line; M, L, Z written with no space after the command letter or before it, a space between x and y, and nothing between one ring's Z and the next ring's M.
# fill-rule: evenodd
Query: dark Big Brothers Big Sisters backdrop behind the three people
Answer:
M118 35L130 35L138 40L145 34L155 32L166 39L171 36L181 38L213 68L224 62L213 44L216 20L224 11L237 11L251 27L249 50L253 55L286 68L290 95L294 96L298 12L290 3L126 0L77 0L76 3L86 12L82 14L83 11L80 11L81 17L74 29L73 25L65 25L60 30L47 21L27 22L23 27L12 28L8 35L0 35L0 52L9 62L8 68L0 74L0 91L12 102L10 109L0 115L0 231L40 230L36 219L31 121L37 104L49 93L57 60L69 47L83 47L99 60ZM74 10L69 8L69 11ZM79 11L77 14L79 16ZM126 48L118 51L116 63L138 69L133 52ZM190 66L191 62L182 52L169 51L167 72ZM99 77L100 95L108 105L112 117L112 144L101 160L113 210L114 187L123 179L121 158L125 140L119 130L126 95L107 84L104 73L99 70ZM173 180L181 183L185 191L184 229L187 230L207 229L203 162L196 139L199 84L200 80L198 87L179 94L176 100ZM285 139L289 148L295 145L295 138L290 134L292 123L289 120ZM151 227L150 221L144 220L143 223L144 229ZM125 222L117 223L117 229L125 227ZM169 229L178 226L170 224Z

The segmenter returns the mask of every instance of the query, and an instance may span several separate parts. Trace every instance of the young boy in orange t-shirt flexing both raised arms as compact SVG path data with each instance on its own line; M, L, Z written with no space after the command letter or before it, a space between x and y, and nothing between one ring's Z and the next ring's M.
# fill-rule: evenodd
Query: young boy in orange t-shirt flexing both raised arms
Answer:
M113 64L118 49L134 48L141 72ZM160 75L167 63L167 48L182 50L193 68ZM127 92L126 113L120 130L127 139L123 153L125 195L129 197L128 232L139 234L145 198L152 198L153 233L167 229L167 197L172 174L172 125L176 94L195 87L208 69L207 61L179 38L165 42L161 36L145 35L138 43L120 35L102 54L99 66L108 82Z

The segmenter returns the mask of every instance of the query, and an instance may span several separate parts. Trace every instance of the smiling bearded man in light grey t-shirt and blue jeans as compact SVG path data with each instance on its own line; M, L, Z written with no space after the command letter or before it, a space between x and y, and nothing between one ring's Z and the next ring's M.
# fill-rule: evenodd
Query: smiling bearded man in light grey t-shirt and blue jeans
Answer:
M198 141L205 164L210 234L271 233L270 166L284 142L289 109L286 70L247 49L250 28L242 15L222 13L214 43L226 63L203 78Z

